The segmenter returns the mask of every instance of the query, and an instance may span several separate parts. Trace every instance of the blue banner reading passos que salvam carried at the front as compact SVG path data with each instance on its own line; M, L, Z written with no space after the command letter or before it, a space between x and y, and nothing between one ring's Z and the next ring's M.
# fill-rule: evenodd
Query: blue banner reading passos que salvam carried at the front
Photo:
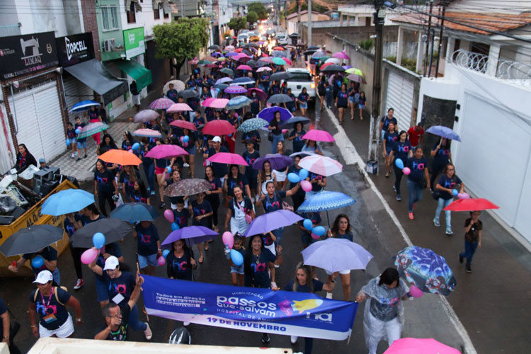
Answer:
M357 302L307 292L143 277L149 315L194 324L342 341L358 309Z

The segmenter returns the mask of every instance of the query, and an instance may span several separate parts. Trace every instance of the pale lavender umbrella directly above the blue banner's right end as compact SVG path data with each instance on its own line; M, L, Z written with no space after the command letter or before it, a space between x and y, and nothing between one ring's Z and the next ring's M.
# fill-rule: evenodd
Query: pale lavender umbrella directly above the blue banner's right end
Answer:
M365 269L372 259L372 254L348 239L329 238L317 241L301 253L305 265L314 265L330 273L347 269Z

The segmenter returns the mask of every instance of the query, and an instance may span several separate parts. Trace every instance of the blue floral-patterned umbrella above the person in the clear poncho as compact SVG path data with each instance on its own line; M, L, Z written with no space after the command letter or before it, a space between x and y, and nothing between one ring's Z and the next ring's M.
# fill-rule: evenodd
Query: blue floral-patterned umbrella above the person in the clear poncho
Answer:
M457 282L444 257L430 249L409 246L394 259L399 274L423 292L450 295Z

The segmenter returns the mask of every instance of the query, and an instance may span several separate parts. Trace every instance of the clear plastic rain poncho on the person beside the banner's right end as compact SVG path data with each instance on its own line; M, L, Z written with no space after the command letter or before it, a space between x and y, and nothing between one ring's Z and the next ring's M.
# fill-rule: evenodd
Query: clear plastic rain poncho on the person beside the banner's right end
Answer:
M369 349L376 348L382 339L389 341L389 332L398 333L398 338L400 337L404 326L404 305L401 298L409 292L409 287L402 279L399 280L400 286L394 289L378 285L378 282L379 277L374 278L360 291L367 297L363 313L363 332L365 345Z

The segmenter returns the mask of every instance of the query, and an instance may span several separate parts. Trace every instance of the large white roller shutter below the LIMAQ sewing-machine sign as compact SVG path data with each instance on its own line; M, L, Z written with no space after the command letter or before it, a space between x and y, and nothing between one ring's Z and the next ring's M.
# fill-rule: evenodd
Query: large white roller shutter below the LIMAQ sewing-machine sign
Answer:
M19 144L25 144L35 159L47 161L64 152L64 125L62 122L56 81L17 93L9 97L11 110L16 108ZM16 125L16 127L17 127Z

